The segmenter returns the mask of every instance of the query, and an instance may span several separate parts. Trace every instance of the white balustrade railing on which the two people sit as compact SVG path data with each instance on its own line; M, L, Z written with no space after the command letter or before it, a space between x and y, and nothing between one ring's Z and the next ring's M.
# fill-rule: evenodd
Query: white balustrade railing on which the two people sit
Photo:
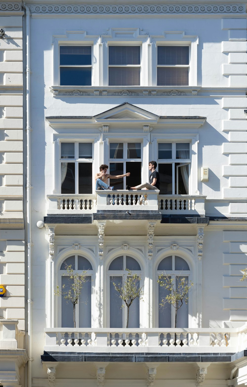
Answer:
M96 191L96 195L48 195L48 214L92 213L99 210L159 211L161 214L205 215L202 195L158 195L158 190Z

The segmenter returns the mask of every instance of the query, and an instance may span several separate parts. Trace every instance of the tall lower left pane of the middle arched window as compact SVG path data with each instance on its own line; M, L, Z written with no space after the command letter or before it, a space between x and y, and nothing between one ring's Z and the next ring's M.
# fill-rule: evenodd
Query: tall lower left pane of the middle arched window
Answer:
M123 301L119 297L119 293L115 290L113 282L122 286L122 277L110 277L110 328L123 327Z

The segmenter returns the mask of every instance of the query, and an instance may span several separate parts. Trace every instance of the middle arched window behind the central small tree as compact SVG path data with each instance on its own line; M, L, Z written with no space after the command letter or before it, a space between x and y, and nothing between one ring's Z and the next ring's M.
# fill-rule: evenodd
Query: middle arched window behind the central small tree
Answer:
M129 269L132 274L141 275L141 267L136 259L129 255L121 255L113 259L108 269L110 281L110 328L125 328L127 320L127 307L124 301L119 297L119 293L115 290L113 282L117 285L124 283L127 279L127 271ZM140 284L139 284L140 286ZM128 328L140 327L140 301L136 298L129 309L129 324Z

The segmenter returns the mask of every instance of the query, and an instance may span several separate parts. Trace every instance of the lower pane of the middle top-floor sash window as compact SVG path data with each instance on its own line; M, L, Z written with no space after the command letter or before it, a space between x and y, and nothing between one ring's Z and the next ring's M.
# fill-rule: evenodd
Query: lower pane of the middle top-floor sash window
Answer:
M109 86L139 86L140 67L109 67Z

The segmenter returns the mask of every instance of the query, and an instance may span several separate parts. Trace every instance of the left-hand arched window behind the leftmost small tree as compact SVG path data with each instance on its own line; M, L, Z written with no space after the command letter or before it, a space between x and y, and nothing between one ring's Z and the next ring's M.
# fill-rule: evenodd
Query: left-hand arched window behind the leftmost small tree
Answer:
M71 279L69 278L66 268L71 265L74 272L78 274L86 273L86 281L83 283L79 303L75 306L75 323L77 328L91 328L91 294L92 294L92 275L93 267L89 260L81 255L71 255L66 258L59 271L59 287L62 290L69 290ZM64 288L63 288L64 286ZM61 300L61 327L74 328L73 305L63 296Z

